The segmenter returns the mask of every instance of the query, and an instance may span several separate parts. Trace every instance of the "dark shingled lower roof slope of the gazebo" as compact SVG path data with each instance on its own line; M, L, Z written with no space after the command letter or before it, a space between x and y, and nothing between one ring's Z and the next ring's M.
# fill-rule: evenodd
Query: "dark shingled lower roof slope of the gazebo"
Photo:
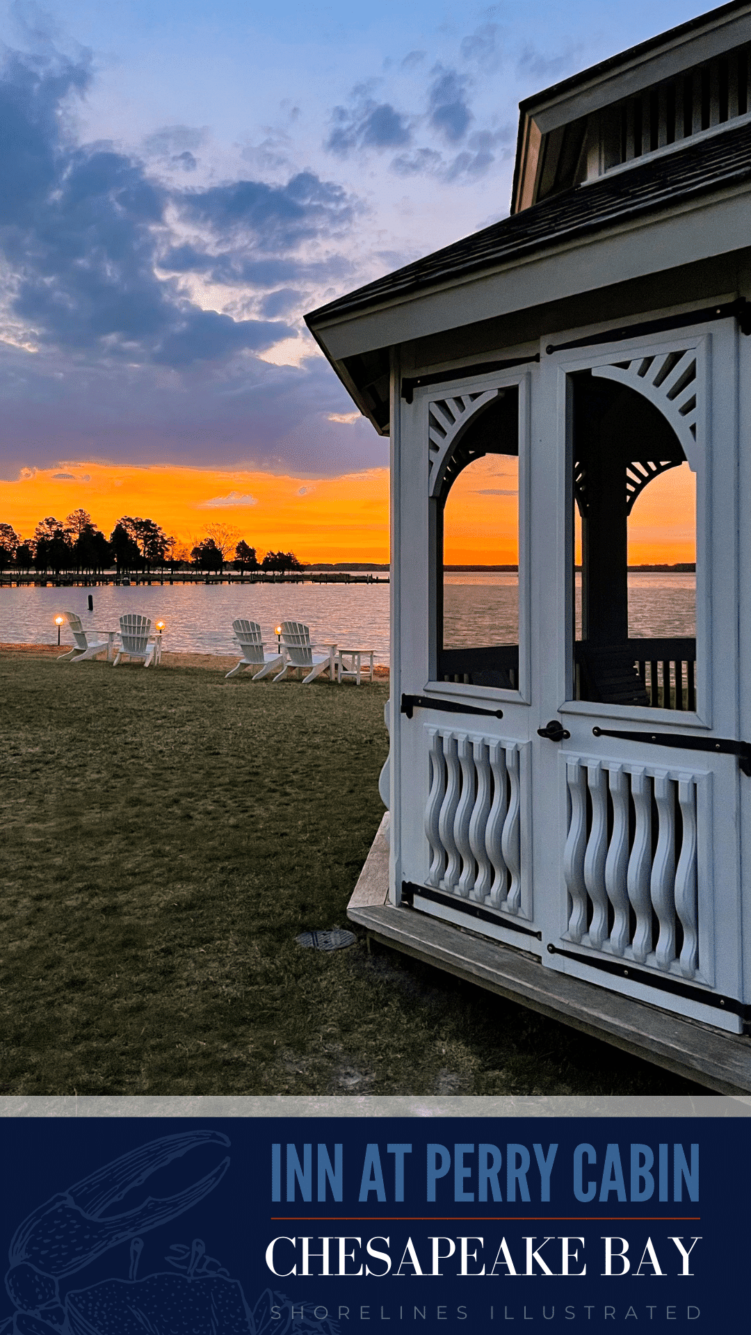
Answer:
M641 166L576 186L464 240L386 274L306 315L309 327L330 316L376 307L394 298L492 270L565 240L657 214L694 198L751 182L751 124L690 143Z

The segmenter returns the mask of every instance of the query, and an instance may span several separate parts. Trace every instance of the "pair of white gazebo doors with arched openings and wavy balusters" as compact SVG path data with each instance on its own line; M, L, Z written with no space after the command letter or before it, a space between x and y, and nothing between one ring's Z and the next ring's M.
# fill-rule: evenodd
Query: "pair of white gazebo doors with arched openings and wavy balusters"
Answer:
M402 406L394 892L739 1031L736 330L576 342ZM505 635L468 635L446 569L460 486L470 515L474 494L498 498L500 553L516 529ZM695 595L691 570L659 573L660 626L655 573L628 566L668 539L673 555L695 543Z

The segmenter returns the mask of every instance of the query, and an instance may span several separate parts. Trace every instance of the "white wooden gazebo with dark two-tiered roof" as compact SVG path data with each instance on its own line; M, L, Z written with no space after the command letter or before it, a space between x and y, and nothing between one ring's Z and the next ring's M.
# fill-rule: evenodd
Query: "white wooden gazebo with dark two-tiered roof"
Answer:
M529 97L510 216L307 322L392 450L388 884L382 830L350 917L751 1091L751 3ZM476 623L473 477L514 554ZM633 515L678 483L695 609L684 573L644 631Z

